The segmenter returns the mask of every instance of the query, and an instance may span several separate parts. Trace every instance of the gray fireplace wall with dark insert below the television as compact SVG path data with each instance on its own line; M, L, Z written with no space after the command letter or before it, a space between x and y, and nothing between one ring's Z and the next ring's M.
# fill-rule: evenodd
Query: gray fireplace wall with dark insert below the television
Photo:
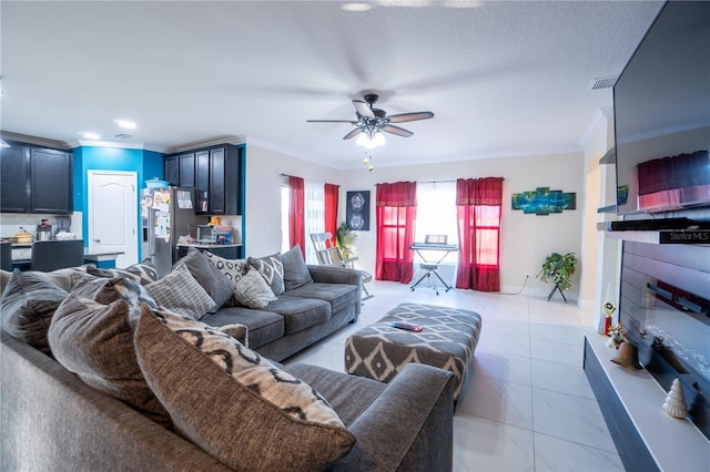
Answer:
M623 242L619 320L666 391L680 379L710 439L710 246Z

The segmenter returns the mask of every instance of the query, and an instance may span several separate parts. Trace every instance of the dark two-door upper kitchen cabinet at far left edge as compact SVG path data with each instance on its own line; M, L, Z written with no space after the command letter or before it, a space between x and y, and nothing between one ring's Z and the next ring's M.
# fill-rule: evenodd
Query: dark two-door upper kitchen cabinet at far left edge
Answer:
M3 213L71 213L71 153L12 144L0 153Z

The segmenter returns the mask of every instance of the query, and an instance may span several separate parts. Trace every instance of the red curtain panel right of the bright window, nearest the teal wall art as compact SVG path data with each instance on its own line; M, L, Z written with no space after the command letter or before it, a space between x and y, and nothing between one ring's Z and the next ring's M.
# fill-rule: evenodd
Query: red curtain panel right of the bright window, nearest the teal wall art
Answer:
M456 288L500 291L503 177L456 181L458 274Z

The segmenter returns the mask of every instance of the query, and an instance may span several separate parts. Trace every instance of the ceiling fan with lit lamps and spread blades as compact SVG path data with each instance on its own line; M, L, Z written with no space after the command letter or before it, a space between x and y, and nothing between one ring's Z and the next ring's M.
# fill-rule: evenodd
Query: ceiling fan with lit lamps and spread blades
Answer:
M432 112L414 112L399 113L396 115L387 115L384 110L375 109L373 105L379 99L375 93L368 93L364 96L365 101L353 100L355 106L355 115L357 121L353 120L306 120L308 123L349 123L355 130L343 136L343 140L349 140L357 136L357 144L365 147L375 147L385 143L383 132L396 134L397 136L409 137L414 133L404 127L395 126L392 123L405 123L408 121L428 120L434 117Z

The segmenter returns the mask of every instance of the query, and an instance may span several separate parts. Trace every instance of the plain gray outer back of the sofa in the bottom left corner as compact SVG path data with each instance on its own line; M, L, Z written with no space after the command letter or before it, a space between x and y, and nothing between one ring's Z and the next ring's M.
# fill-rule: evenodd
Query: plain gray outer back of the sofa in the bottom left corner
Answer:
M229 471L180 435L0 331L2 470Z

